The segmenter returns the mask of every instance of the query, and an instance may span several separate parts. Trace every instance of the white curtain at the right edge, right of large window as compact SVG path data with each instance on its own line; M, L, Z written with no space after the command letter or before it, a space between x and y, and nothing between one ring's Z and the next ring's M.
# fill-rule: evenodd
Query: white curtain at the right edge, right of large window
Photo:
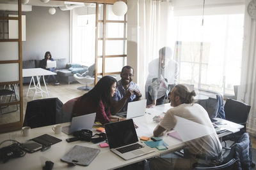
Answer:
M244 12L244 45L241 66L241 85L237 99L251 106L247 130L256 136L256 20L247 12L250 0L246 0Z

